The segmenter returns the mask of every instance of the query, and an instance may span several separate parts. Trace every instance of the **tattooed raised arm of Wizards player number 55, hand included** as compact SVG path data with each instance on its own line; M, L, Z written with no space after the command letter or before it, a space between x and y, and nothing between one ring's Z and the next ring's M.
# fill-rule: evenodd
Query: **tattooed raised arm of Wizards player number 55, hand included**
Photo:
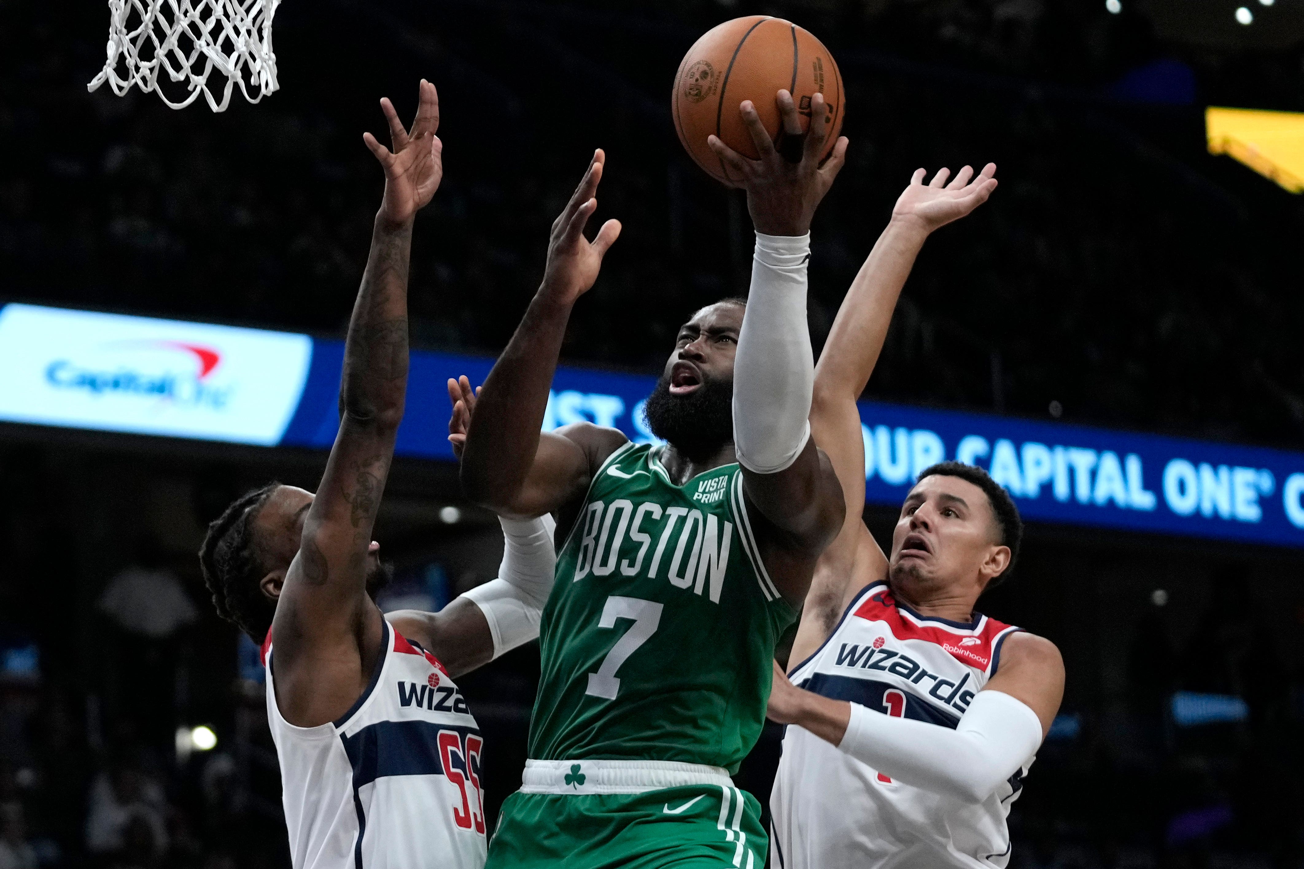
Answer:
M385 199L344 344L339 433L271 625L276 702L300 727L335 720L353 705L370 681L385 631L366 593L379 567L372 525L407 391L412 221L439 186L443 165L433 85L421 82L411 132L387 99L381 108L394 152L364 134L385 168Z

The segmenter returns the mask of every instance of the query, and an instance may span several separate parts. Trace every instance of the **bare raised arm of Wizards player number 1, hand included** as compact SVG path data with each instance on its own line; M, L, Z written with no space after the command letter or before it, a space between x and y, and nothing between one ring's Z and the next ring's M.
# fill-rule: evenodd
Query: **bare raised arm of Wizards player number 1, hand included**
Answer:
M846 516L837 538L820 556L811 582L806 621L819 623L819 629L802 632L793 646L794 661L823 642L832 621L846 607L866 577L887 575L887 558L865 522L859 506L865 503L865 443L861 436L861 414L857 400L870 382L883 341L892 322L901 288L923 242L938 228L964 218L987 201L996 189L996 165L988 163L974 177L964 167L947 184L948 169L940 169L925 184L925 171L918 169L909 186L897 198L892 220L875 242L855 280L852 281L842 306L833 321L824 352L815 366L815 392L811 401L811 438L833 463ZM872 564L861 564L861 562Z

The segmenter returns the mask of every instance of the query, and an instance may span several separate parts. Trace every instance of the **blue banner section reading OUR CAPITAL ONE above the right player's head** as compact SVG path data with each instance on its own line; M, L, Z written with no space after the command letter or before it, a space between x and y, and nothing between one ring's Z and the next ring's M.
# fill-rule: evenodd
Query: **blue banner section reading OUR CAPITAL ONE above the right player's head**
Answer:
M861 421L870 503L955 459L1029 520L1304 546L1301 453L870 401Z

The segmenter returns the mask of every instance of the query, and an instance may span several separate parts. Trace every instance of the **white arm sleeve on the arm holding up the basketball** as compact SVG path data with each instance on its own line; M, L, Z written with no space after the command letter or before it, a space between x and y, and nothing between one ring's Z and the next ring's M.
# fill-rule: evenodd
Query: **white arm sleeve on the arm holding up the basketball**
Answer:
M810 438L815 358L806 327L811 237L756 233L734 362L734 447L759 474L792 465Z

